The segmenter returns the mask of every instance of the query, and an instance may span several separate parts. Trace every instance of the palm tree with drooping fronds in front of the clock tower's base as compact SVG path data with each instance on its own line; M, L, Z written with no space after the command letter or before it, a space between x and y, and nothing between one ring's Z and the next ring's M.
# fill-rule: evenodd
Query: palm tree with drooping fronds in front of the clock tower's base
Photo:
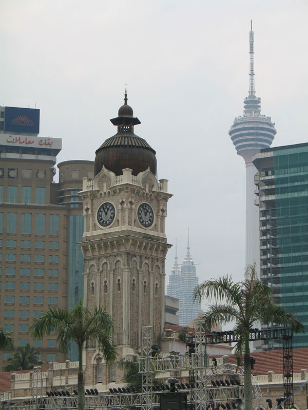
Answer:
M78 410L85 408L85 385L83 375L82 350L86 341L96 343L107 363L113 362L117 353L112 345L111 336L113 323L110 315L103 309L95 307L89 311L80 300L76 306L68 311L50 309L40 317L35 318L31 326L34 337L42 338L44 334L57 332L57 341L63 351L67 351L68 344L75 341L79 350L78 372Z

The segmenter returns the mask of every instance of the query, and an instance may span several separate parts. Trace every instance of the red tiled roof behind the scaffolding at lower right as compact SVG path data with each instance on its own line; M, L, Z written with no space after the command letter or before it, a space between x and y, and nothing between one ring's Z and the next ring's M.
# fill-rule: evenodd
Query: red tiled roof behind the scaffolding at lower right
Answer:
M269 371L276 374L283 373L282 349L268 352L253 352L251 356L256 359L254 370L252 371L254 375L266 375ZM216 357L221 357L221 355L216 355ZM229 361L236 364L234 355L230 355ZM293 349L293 373L299 373L302 368L308 370L308 347Z

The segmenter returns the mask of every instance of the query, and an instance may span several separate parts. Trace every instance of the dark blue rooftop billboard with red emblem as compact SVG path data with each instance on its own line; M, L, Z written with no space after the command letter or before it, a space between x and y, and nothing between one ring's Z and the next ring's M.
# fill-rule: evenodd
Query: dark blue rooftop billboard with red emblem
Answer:
M38 134L40 132L40 110L5 107L4 131Z

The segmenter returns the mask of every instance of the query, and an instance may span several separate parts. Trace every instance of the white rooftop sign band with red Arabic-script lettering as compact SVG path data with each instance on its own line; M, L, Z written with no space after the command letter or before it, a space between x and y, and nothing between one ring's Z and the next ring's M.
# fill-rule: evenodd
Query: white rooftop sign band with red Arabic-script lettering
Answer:
M33 147L61 150L61 138L25 137L23 135L0 134L0 145L11 147Z

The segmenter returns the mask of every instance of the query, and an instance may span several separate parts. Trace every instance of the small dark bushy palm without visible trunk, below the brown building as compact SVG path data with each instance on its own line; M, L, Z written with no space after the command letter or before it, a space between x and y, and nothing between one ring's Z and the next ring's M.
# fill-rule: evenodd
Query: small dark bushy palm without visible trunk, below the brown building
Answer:
M6 372L14 370L31 370L34 366L43 364L42 360L38 360L38 353L31 347L29 343L25 346L17 348L17 352L8 359L11 363L5 367Z

